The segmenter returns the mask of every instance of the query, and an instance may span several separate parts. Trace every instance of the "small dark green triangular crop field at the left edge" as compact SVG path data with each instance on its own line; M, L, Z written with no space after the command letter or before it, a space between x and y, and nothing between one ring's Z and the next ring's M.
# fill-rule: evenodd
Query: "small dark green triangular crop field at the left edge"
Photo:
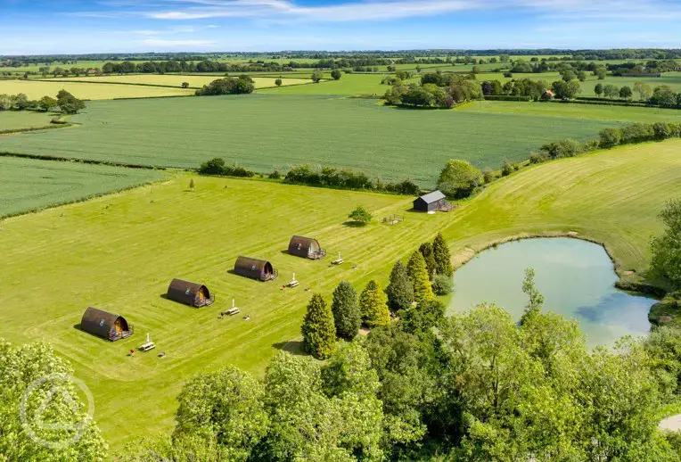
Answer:
M0 218L156 181L158 170L0 157Z

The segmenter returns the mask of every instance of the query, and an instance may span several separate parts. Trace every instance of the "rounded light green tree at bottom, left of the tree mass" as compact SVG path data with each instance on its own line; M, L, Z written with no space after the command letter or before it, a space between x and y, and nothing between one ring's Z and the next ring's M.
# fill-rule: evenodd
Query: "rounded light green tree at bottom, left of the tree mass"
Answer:
M229 458L244 460L267 434L264 393L258 380L233 366L196 375L177 397L173 438L201 434Z

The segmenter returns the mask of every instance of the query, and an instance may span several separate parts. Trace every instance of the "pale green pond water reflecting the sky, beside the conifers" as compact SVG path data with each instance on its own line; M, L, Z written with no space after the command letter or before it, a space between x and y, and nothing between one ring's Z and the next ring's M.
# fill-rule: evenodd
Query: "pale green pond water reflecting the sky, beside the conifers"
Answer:
M493 301L520 319L528 301L521 289L525 268L535 269L544 309L577 319L590 346L649 332L655 300L616 289L618 277L603 247L568 237L525 239L480 252L455 272L450 314Z

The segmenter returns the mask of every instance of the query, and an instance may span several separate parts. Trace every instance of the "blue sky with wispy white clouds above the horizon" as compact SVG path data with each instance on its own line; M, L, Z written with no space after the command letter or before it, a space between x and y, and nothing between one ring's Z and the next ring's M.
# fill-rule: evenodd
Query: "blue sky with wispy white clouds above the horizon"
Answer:
M681 47L681 0L0 0L0 55Z

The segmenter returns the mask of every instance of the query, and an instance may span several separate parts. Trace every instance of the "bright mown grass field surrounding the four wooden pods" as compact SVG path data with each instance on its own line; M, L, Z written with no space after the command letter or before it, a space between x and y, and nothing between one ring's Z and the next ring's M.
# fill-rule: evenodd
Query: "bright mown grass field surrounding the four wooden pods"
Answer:
M105 437L120 448L133 435L169 430L176 394L190 376L224 364L261 373L276 350L299 351L310 293L328 300L341 280L385 285L395 260L439 231L453 252L521 233L576 231L606 243L619 270L644 270L647 241L660 231L655 215L681 191L679 149L681 141L668 141L549 162L496 182L449 214L410 213L411 198L262 180L193 177L189 192L190 177L181 176L7 219L0 336L44 340L70 359L94 394ZM377 219L404 213L406 221L344 226L356 204ZM315 236L346 263L286 254L293 234ZM263 284L229 273L239 255L270 260L280 280ZM281 290L292 273L299 288ZM216 304L191 309L165 300L173 277L209 285ZM250 320L219 318L232 299ZM87 306L125 316L135 335L111 343L79 331ZM165 359L127 356L147 333Z

